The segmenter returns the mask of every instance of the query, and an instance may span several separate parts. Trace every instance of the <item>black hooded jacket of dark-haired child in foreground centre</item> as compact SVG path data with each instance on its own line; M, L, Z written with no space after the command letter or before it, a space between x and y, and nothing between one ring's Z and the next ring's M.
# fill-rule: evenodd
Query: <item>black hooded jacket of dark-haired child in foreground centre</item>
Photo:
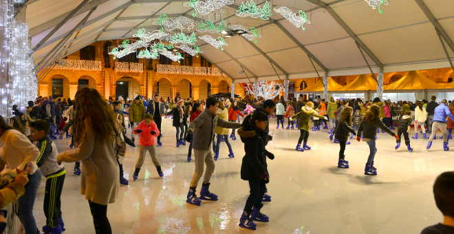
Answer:
M241 130L241 131L240 131ZM264 131L256 127L250 127L243 131L238 129L238 135L241 142L244 143L243 162L241 164L241 179L242 180L257 180L260 181L260 174L263 171L268 173L266 156L264 155L265 144L263 139Z

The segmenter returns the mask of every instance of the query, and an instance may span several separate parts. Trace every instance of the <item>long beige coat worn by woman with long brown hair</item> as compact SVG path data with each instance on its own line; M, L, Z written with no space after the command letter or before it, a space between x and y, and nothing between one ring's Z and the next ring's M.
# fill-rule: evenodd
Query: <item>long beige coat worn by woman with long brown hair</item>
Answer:
M115 157L115 134L102 143L87 126L85 140L76 148L58 154L61 162L82 162L80 193L97 204L114 203L118 197L120 169Z

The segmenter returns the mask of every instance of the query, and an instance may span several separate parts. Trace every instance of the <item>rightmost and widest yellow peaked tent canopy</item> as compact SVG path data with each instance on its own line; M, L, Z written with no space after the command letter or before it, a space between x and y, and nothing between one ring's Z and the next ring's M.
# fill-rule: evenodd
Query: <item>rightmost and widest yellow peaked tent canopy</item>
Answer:
M424 76L420 71L407 72L402 78L383 87L385 93L421 92L424 89L439 89L441 85Z

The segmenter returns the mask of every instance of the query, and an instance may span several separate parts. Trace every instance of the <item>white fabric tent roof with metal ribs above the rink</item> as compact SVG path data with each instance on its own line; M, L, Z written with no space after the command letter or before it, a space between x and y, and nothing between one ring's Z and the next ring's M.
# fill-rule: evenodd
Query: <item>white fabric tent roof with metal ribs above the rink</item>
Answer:
M263 6L263 0L257 1L257 6ZM29 0L25 3L25 23L30 28L32 47L58 23L65 22L34 52L36 64L59 42L63 42L73 28L76 30L59 51L69 54L94 41L131 38L140 28L147 31L157 29L160 26L153 25L152 22L160 14L167 14L168 19L181 15L191 18L194 12L193 8L183 6L188 1L90 0L69 20L64 21L82 2L83 0ZM255 76L259 81L277 80L270 61L274 63L281 78L285 74L289 78L315 77L317 75L307 53L311 54L312 62L321 76L326 71L329 76L369 74L357 43L362 47L374 72L379 71L380 64L383 65L384 72L449 67L435 28L442 32L448 53L454 57L452 0L390 1L389 6L381 6L382 14L372 9L366 1L358 0L281 0L269 3L277 5L274 8L286 6L297 15L299 10L303 10L312 23L305 23L306 30L303 31L274 11L268 21L236 17L235 10L241 4L237 0L235 5L221 8L224 12L222 18L232 25L257 28L262 37L257 38L257 43L253 43L255 46L250 45L243 36L226 38L228 45L223 46L224 51L215 49L202 40L197 41L202 56L224 70L230 78L237 80L237 83ZM88 14L85 23L76 27ZM432 15L436 19L435 23L429 20ZM215 18L215 15L197 14L192 18L200 21L208 17L215 22L219 21L219 17ZM195 33L198 36L206 34ZM217 38L219 35L211 36ZM69 44L72 44L71 47L68 47ZM60 58L58 54L59 52L52 56L50 61ZM245 72L240 73L242 70Z

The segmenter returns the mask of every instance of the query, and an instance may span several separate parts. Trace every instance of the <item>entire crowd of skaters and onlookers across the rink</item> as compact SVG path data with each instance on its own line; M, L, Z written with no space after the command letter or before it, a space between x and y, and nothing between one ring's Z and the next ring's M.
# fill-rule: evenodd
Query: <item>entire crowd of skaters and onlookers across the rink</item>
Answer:
M47 220L43 232L61 233L65 228L60 197L66 173L62 162L76 162L74 174L81 177L81 193L88 200L96 233L111 233L107 206L116 202L119 185L129 184L122 169L127 145L136 147L135 136L139 136L134 181L139 178L147 152L158 175L163 177L156 147L162 146L162 134L167 134L162 131L162 118L171 118L172 126L176 129L175 147L184 147L187 142L187 161L191 162L194 157L195 162L195 171L187 194L188 204L201 206L202 200L218 200L218 195L211 193L209 188L221 142L226 143L229 158L235 157L229 140L237 140L238 135L241 142L244 142L241 179L248 181L250 195L241 214L239 226L255 230L255 222L269 222L269 217L261 213L261 208L263 202L271 201L266 189L266 184L270 182L267 158L273 160L274 154L268 151L266 146L272 140L272 118L277 120L277 129L296 128L300 131L296 151L312 149L308 145L310 129L326 129L330 134L329 138L340 145L338 167L342 169L348 169L350 166L345 160L345 149L346 145L351 144L348 140L356 136L358 142L367 142L370 149L365 175L377 175L377 169L374 167L377 133L381 129L382 132L395 137L396 149L400 147L403 135L407 149L413 151L409 138L413 123L412 111L415 127L412 138L419 137L418 131L424 138L427 138L426 133L429 133L426 148L430 149L436 139L436 132L441 130L444 150L449 149L448 139L451 139L454 127L454 102L442 100L436 103L435 100L435 96L431 97L431 102L422 100L415 103L391 103L391 100L381 101L380 98L367 102L360 98L330 98L326 102L323 99L305 100L302 97L285 101L283 98L248 100L210 96L199 101L179 97L175 100L163 99L158 94L153 99L137 96L133 100L125 100L119 96L105 100L96 89L83 88L78 90L74 100L39 97L30 101L25 111L13 106L14 117L10 123L0 118L0 156L7 164L1 175L15 178L8 183L2 178L0 185L6 188L14 187L12 190L16 198L21 195L19 220L25 233L39 233L32 211L41 184L41 175L44 175L44 213ZM288 118L287 127L284 127L285 118ZM392 131L395 126L397 133ZM130 138L127 136L129 128ZM229 136L230 129L232 131ZM72 138L70 149L58 153L54 140L57 140L57 137L63 138L65 134L67 138ZM202 177L202 188L197 196L197 184ZM454 228L454 225L451 225L454 220L451 199L454 197L454 190L449 185L453 182L452 172L443 173L435 181L435 200L444 214L445 222L442 226L426 228L424 234L433 233L431 230L452 231L448 228ZM14 199L8 200L3 196L3 200L0 204L4 206ZM446 208L448 206L451 208Z

